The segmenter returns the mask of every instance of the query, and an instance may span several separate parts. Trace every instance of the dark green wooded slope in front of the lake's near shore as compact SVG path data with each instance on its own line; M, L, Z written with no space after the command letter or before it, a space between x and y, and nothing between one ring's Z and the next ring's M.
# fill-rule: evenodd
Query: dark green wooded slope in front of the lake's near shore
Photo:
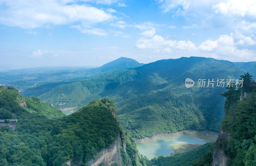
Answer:
M215 142L211 142L201 145L185 153L178 153L176 155L167 157L160 155L151 159L151 162L156 166L191 166L197 161L204 160L206 156L200 158L200 156L204 156L204 153L209 153L207 156L212 156L214 145ZM193 164L193 166L201 166L200 164L197 165L197 163Z

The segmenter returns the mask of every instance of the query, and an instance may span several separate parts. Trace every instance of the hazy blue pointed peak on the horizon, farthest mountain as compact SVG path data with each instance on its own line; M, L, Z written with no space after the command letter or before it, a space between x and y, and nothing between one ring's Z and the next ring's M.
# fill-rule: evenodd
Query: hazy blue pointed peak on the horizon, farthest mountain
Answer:
M106 71L117 70L117 69L136 68L142 65L144 64L139 63L138 61L132 58L120 57L114 61L111 61L102 65L99 69L101 69L102 72L106 72Z

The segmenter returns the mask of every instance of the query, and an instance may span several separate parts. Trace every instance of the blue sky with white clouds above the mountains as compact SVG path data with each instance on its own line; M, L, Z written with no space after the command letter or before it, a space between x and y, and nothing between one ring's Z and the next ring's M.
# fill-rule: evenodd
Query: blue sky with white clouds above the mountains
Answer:
M0 0L0 69L256 61L255 0Z

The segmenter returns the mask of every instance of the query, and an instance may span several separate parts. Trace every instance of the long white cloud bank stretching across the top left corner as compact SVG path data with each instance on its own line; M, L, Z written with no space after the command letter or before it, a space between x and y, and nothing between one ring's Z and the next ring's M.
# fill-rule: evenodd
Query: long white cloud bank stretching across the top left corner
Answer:
M97 1L110 3L112 1ZM116 2L116 1L115 1ZM70 5L67 5L70 3ZM19 26L21 28L36 28L45 25L72 24L76 21L88 25L102 23L114 18L102 9L86 4L78 5L76 1L7 1L1 6L0 24Z

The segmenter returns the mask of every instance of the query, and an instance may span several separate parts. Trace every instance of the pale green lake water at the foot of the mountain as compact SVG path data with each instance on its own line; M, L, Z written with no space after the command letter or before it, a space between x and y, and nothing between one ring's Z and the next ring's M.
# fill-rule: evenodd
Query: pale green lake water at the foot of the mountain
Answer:
M200 140L196 137L191 137L188 135L180 135L175 137L162 137L156 141L136 143L140 154L146 155L149 159L154 158L158 155L170 156L174 151L170 146L187 143L187 144L200 144L203 145L206 142Z

